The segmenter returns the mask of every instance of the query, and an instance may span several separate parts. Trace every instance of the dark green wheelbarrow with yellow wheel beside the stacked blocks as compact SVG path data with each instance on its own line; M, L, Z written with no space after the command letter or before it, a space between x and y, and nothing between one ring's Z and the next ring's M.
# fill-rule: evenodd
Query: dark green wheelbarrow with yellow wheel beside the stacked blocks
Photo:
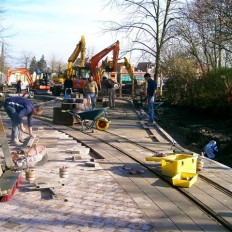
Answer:
M99 108L95 110L75 112L69 111L78 121L81 122L82 131L90 130L94 127L100 130L105 131L109 127L109 121L106 119L106 108Z

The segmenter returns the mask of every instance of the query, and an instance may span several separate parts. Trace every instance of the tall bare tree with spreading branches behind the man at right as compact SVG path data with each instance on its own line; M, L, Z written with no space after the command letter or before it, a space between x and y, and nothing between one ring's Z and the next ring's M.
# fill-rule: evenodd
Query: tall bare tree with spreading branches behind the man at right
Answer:
M124 53L139 52L140 57L155 63L154 78L160 73L160 59L164 45L174 36L178 0L111 0L124 16L121 22L108 21L104 32L122 34L127 39Z

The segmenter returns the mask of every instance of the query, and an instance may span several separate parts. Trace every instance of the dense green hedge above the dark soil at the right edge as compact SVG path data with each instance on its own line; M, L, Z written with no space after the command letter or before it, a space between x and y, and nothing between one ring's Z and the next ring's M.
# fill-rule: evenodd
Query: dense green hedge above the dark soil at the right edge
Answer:
M228 93L232 88L232 69L223 68L202 76L175 72L166 82L165 99L176 106L212 113L232 114Z

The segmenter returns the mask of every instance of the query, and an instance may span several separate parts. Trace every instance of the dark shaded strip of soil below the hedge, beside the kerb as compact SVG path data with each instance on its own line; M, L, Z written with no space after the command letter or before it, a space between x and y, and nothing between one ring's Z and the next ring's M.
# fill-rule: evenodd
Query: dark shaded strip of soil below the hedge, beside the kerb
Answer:
M163 104L156 112L157 123L182 147L200 154L204 146L215 140L215 160L232 167L232 122L229 117L190 112Z

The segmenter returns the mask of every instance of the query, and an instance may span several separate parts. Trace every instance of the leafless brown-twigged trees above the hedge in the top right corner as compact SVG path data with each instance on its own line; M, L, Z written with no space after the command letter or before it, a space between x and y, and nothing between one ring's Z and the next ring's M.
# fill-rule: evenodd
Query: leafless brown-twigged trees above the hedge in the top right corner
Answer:
M188 49L203 72L230 63L231 5L228 0L193 0L182 9L183 20L178 27L182 47Z

